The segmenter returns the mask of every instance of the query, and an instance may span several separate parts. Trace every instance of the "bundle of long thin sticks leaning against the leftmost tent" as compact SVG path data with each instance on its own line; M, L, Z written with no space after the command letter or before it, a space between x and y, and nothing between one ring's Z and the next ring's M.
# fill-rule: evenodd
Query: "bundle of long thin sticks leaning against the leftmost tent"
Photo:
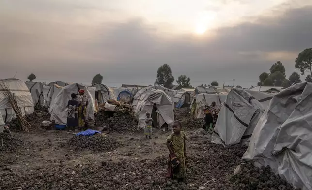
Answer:
M17 105L17 101L16 101L16 97L15 97L14 93L10 90L10 88L8 86L6 86L4 84L4 82L3 82L3 84L0 84L0 86L3 89L2 93L4 94L6 100L10 103L11 107L13 108L13 110L16 114L20 130L29 131L29 129L31 128L31 125L23 117L22 111L19 109L19 107Z

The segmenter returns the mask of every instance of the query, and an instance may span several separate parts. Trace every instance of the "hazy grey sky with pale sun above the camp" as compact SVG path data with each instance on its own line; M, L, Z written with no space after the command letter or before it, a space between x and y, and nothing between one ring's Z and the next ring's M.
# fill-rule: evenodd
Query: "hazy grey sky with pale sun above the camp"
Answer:
M167 63L193 86L250 87L311 47L311 0L0 1L0 78L148 85Z

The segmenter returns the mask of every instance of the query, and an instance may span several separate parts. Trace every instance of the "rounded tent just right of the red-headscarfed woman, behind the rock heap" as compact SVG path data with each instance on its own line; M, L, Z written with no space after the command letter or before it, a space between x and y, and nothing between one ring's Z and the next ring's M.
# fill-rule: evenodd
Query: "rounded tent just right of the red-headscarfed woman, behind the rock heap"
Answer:
M96 83L90 87L96 87L95 99L99 104L102 104L107 100L117 100L114 91L102 83Z

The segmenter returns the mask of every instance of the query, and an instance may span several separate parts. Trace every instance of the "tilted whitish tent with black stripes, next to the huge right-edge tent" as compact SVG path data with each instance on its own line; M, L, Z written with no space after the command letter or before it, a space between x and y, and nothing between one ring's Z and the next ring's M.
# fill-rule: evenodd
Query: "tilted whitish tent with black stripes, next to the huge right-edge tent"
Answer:
M211 142L248 145L253 129L272 97L269 93L233 88L219 111Z

